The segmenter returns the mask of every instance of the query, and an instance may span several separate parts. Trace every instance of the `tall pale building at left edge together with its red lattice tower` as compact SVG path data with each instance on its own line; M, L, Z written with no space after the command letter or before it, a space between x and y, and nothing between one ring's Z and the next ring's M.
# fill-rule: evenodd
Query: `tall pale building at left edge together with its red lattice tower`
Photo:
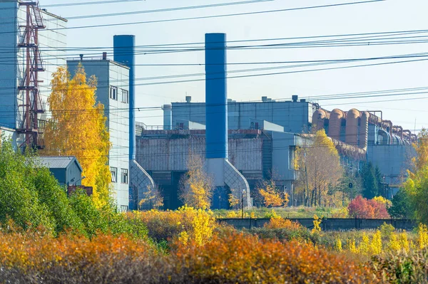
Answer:
M0 125L16 131L19 147L43 147L51 75L66 64L67 21L36 1L2 0L0 22Z

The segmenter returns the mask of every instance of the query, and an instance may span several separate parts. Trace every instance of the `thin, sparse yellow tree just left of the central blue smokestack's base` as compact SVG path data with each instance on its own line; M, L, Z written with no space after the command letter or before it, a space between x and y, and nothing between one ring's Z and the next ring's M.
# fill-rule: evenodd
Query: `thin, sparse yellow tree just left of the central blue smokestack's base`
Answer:
M213 179L205 172L203 159L190 154L188 172L180 180L179 198L184 204L198 209L209 209L213 195Z

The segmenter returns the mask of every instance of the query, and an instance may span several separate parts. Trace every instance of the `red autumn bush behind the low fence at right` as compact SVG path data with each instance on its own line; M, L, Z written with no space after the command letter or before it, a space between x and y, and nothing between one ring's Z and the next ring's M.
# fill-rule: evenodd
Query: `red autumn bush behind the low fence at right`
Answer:
M357 196L348 205L351 217L366 219L388 219L387 204L383 199L365 199L361 195Z

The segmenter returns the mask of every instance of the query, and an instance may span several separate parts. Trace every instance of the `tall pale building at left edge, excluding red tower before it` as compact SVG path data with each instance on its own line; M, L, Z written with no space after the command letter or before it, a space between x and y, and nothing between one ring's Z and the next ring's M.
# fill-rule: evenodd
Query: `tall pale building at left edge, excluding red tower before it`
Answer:
M11 129L22 130L25 127L24 116L25 90L20 89L24 85L26 78L26 16L28 0L1 0L0 1L0 125ZM33 1L34 2L34 1ZM34 2L36 3L36 2ZM38 121L39 133L42 132L44 122L50 117L49 105L46 100L50 94L51 75L58 66L66 65L63 59L66 56L66 23L67 20L49 13L46 10L33 6L29 11L31 19L36 25L37 20L43 23L44 28L39 29L37 53L41 58L37 60L37 87L39 92ZM34 12L36 11L36 12ZM31 39L30 46L33 44ZM34 48L34 46L32 47ZM34 78L31 78L30 85L34 86ZM34 90L31 90L34 92ZM17 133L18 134L18 133ZM24 135L16 135L19 144L24 142Z

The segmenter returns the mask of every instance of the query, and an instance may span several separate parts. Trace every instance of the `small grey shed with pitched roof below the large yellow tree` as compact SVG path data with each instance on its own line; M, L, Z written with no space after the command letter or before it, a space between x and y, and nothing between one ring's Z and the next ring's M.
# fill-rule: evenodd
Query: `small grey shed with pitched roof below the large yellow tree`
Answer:
M82 167L76 157L38 157L37 162L49 168L61 186L80 186L82 184Z

